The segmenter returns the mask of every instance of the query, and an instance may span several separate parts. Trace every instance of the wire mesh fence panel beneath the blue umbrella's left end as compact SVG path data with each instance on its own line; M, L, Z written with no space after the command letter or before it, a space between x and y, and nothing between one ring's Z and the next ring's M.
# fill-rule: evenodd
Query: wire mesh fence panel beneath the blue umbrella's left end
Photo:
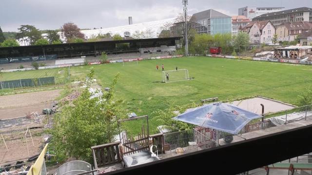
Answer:
M183 148L189 145L189 141L194 141L194 131L187 130L164 135L165 144L170 144L170 148Z

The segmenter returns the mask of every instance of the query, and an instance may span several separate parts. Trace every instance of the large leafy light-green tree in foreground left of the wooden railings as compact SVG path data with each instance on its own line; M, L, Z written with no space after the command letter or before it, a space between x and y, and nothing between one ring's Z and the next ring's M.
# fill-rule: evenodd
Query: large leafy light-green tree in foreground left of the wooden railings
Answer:
M93 161L91 146L115 141L118 134L117 121L124 118L122 99L115 98L115 87L119 74L110 86L110 90L101 97L90 98L89 92L94 70L91 68L86 88L78 99L70 105L64 105L54 117L51 145L57 155L67 155L81 160Z

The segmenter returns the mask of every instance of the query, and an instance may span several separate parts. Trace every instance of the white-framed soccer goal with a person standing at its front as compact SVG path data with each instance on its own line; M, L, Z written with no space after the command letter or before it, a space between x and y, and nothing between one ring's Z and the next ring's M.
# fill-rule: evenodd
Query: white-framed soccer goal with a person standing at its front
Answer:
M162 71L163 83L172 83L185 80L190 80L189 70L181 69L181 70Z

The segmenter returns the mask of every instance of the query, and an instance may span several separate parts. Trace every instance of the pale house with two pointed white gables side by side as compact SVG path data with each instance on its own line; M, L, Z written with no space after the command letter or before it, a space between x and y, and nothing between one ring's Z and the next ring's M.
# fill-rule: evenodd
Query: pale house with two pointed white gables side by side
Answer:
M271 44L275 35L275 27L271 21L254 21L242 28L241 31L247 32L250 42L254 44Z

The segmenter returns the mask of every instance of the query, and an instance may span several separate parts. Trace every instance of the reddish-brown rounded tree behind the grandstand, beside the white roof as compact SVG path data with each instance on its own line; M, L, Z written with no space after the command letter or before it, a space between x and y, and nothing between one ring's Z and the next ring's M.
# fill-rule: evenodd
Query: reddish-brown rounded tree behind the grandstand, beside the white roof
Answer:
M66 39L76 39L76 38L82 38L84 39L84 34L80 32L80 29L78 26L72 22L65 23L61 27L61 32L66 37Z

